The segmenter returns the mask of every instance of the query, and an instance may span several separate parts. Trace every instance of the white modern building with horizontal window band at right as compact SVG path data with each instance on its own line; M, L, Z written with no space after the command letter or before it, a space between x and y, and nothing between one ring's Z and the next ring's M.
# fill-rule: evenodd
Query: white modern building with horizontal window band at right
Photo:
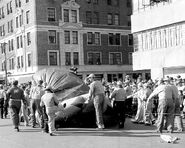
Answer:
M184 8L184 0L133 0L133 70L185 77Z

